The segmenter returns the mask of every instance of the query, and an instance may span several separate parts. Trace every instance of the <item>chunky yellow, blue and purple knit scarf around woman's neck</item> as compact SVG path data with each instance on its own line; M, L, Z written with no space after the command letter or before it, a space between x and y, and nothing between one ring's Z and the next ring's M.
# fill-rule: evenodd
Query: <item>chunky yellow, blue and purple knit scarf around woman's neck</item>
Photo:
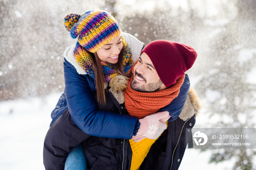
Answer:
M124 72L126 73L133 65L133 61L131 58L131 49L129 48L128 44L126 43L123 36L121 36L122 43L123 43L123 68ZM74 50L74 57L76 62L84 69L84 71L89 74L89 76L93 77L95 80L94 69L93 69L93 61L91 59L91 55L87 52L87 50L76 42L76 47ZM105 77L105 82L109 82L110 79L117 75L117 71L114 70L112 64L108 62L101 61L103 74Z

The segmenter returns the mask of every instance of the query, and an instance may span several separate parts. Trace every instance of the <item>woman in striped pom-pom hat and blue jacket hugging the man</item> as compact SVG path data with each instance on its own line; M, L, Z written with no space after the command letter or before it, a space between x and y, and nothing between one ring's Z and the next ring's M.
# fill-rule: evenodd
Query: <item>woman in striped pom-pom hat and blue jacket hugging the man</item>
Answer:
M139 119L109 109L112 101L106 87L117 74L126 76L143 43L122 33L116 20L104 11L88 11L82 16L71 13L64 18L64 26L78 41L64 52L65 90L52 112L51 125L68 108L72 121L88 135L131 139L139 130ZM181 95L187 98L186 92ZM175 110L174 119L184 103L165 109Z

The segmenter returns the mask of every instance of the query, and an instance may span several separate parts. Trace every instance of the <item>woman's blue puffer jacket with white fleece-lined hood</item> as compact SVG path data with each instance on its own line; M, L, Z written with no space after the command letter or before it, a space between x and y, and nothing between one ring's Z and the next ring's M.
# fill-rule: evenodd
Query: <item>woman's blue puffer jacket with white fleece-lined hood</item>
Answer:
M124 33L122 35L131 48L133 61L136 61L144 44L132 35ZM51 114L52 123L68 108L74 123L88 135L131 139L139 128L138 118L97 109L93 96L96 93L94 79L75 61L74 47L75 45L64 52L65 90ZM189 86L189 78L186 76L179 95L171 104L160 110L169 111L172 116L169 121L175 120L182 111Z

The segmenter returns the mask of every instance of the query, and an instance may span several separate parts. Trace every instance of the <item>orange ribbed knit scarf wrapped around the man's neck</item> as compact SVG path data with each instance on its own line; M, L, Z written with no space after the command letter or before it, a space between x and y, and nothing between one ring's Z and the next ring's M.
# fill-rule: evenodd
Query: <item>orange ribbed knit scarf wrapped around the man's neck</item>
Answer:
M136 63L134 65L136 65ZM127 88L124 90L125 107L129 115L143 118L151 113L155 113L160 108L170 104L172 100L180 93L180 87L184 82L185 76L178 78L176 84L165 90L160 90L157 92L137 92L133 90L131 88L131 81L133 80L133 67L130 69L132 76L128 81Z

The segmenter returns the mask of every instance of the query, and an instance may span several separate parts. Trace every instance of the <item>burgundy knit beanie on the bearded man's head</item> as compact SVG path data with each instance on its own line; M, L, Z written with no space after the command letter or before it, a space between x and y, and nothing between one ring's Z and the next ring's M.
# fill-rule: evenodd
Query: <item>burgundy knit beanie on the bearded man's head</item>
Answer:
M197 53L188 45L168 40L155 40L149 43L141 53L151 59L158 76L169 88L194 64Z

